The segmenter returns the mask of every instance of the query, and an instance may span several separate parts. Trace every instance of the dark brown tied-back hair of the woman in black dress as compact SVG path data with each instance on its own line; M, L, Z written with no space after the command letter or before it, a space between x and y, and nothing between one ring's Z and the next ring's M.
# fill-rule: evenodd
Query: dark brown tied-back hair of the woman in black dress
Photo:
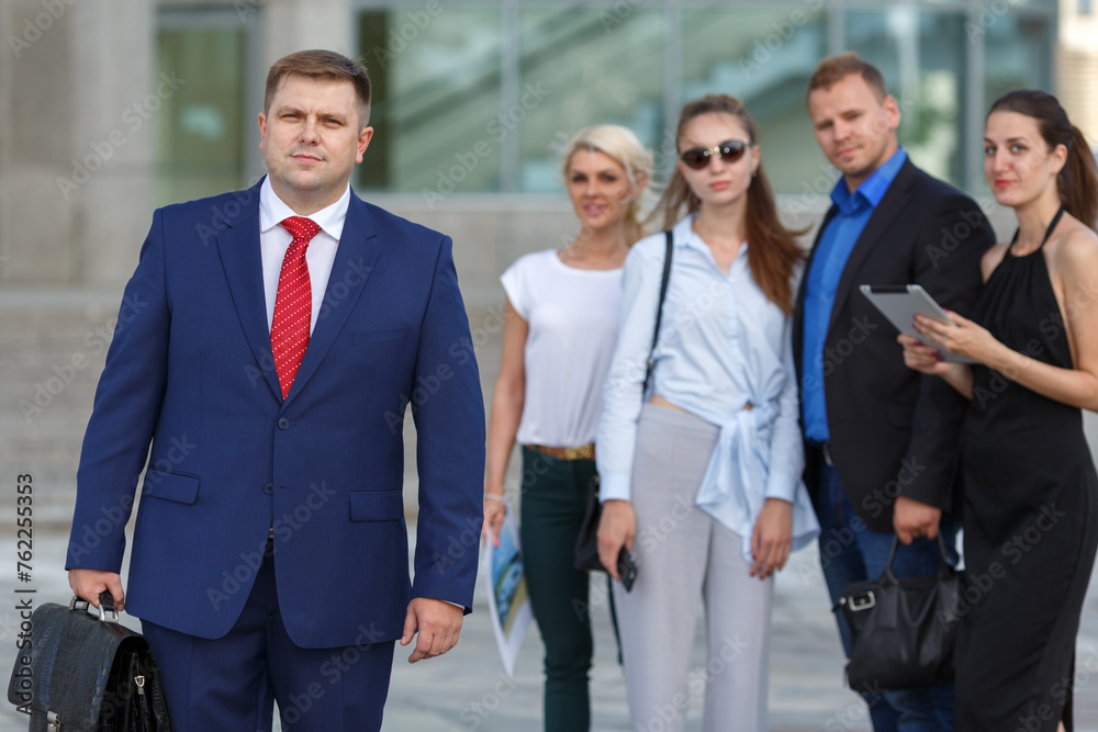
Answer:
M1067 162L1056 176L1060 200L1067 213L1094 229L1098 219L1095 157L1086 137L1071 123L1056 98L1038 89L1008 91L995 100L987 116L995 112L1017 112L1032 117L1050 150L1057 145L1067 148Z

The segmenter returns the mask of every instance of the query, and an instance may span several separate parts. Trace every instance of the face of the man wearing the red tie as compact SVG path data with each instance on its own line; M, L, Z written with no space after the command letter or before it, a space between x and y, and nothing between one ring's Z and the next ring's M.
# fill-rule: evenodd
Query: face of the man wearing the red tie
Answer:
M259 149L271 187L307 216L339 200L372 127L360 127L350 81L289 76L259 114Z

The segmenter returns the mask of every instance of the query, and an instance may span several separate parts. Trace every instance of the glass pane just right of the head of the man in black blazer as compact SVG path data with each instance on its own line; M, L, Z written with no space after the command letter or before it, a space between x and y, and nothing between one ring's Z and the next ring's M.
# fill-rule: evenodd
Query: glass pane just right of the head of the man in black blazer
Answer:
M932 176L963 185L967 49L964 13L851 11L849 48L881 69L900 106L899 142Z

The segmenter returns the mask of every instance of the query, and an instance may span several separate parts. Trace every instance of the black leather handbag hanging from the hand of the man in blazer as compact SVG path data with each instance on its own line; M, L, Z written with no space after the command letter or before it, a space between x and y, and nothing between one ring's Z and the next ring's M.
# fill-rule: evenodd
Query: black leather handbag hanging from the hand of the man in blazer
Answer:
M850 627L847 682L855 691L910 689L953 680L962 573L953 568L941 534L937 574L897 578L893 540L885 571L855 582L834 609Z

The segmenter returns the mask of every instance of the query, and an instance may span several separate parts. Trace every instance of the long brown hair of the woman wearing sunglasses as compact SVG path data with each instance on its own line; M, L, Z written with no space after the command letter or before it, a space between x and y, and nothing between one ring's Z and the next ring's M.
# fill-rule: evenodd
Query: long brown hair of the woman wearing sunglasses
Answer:
M675 131L676 145L682 143L683 131L695 117L703 114L730 114L740 120L748 132L749 142L754 145L757 139L754 121L748 115L747 109L738 100L727 94L706 94L683 108L679 115L679 127ZM682 171L675 166L671 181L656 204L649 221L662 218L663 228L670 229L681 217L683 206L687 213L694 213L702 207L702 201L691 190ZM774 194L766 181L762 165L755 170L754 178L748 187L746 229L750 250L748 266L751 277L766 297L782 308L786 315L793 313L793 270L804 257L794 237L799 232L792 232L777 217L774 205Z

